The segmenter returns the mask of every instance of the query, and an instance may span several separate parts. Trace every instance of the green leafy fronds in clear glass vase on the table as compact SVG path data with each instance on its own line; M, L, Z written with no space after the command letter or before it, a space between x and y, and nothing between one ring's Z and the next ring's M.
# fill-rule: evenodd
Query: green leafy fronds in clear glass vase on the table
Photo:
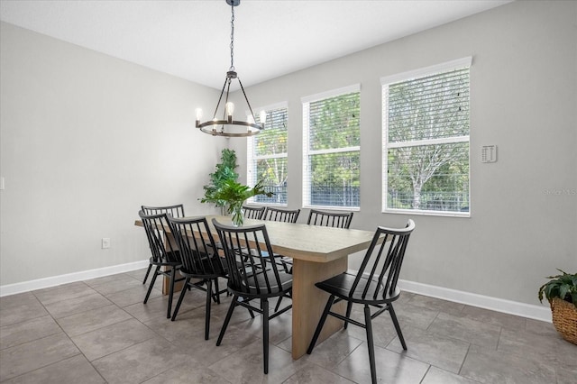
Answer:
M226 206L227 212L231 215L234 226L242 226L244 223L243 204L244 201L253 196L266 195L271 197L272 192L267 192L262 187L262 180L254 187L245 186L236 180L224 180L220 187L206 193L200 202L213 203L216 206Z

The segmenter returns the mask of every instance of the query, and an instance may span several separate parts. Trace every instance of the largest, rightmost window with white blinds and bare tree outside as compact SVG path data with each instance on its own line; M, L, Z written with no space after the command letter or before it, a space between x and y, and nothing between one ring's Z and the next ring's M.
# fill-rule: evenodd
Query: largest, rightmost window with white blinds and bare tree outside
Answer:
M471 61L380 79L384 212L470 215Z

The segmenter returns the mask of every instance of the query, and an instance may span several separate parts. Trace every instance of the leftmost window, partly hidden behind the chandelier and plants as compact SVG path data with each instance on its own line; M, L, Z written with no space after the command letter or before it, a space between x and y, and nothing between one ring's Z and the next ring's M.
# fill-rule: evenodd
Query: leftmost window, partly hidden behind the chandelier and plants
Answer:
M263 180L263 186L274 196L252 197L255 204L287 204L287 105L265 107L266 123L261 133L247 140L247 180L254 186ZM260 123L260 114L256 116Z

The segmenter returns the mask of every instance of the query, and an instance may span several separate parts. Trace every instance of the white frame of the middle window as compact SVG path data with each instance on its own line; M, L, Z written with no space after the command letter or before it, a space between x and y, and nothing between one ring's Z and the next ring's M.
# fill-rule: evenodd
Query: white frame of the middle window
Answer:
M318 209L331 209L331 210L346 210L346 211L359 211L360 206L313 206L310 202L310 187L311 183L307 177L310 175L309 169L309 156L316 154L326 154L326 153L340 153L340 152L361 152L361 146L345 147L345 148L335 148L332 150L318 150L311 151L309 149L309 138L310 138L310 103L323 100L325 98L331 98L335 96L346 95L354 92L361 92L361 84L354 84L348 87L341 87L325 92L321 92L315 95L301 97L301 103L303 105L303 173L302 173L302 183L303 183L303 207L304 208L318 208ZM360 127L359 127L360 128Z

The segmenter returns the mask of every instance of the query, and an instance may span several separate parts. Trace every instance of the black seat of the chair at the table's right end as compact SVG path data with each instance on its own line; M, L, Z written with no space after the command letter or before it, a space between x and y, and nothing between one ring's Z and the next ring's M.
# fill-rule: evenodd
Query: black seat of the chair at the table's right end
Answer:
M318 282L315 285L317 288L323 289L324 291L328 292L331 295L341 297L348 301L353 301L354 303L366 303L366 304L389 303L391 301L395 301L400 295L400 289L395 287L392 295L388 293L383 298L382 283L380 283L379 287L379 281L377 280L377 278L369 280L364 277L362 277L359 280L359 285L354 290L353 295L351 295L350 292L351 288L353 288L354 279L356 279L356 275L350 272L344 272L341 273L340 275L334 276L334 278ZM362 297L362 292L365 291L367 284L369 285L367 292L371 293L366 295L365 297ZM374 292L378 292L378 295L376 295L376 297L373 296Z

